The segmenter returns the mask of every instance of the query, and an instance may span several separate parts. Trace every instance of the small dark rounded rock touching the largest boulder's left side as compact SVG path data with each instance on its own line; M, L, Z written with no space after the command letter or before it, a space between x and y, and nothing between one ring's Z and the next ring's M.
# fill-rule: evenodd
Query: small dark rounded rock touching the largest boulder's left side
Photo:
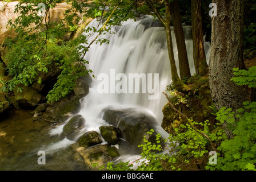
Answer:
M120 131L114 126L101 126L99 127L99 131L101 131L101 135L106 142L113 145L117 144L121 137Z

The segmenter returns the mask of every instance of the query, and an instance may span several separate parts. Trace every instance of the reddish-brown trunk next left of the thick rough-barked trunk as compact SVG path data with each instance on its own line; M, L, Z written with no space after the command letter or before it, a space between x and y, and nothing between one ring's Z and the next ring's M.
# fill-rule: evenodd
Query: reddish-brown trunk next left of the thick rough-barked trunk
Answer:
M191 0L191 23L193 34L193 57L197 75L209 73L203 47L203 27L201 18L201 0Z

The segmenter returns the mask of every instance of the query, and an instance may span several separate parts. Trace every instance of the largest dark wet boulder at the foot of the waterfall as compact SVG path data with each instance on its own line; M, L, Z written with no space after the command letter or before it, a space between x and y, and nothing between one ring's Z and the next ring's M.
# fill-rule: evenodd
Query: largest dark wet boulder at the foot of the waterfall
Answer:
M155 142L155 135L158 133L155 126L155 118L149 114L139 113L135 109L105 109L103 110L103 119L121 131L121 137L133 146L143 143L143 137L146 136L150 142ZM147 134L154 129L153 135Z

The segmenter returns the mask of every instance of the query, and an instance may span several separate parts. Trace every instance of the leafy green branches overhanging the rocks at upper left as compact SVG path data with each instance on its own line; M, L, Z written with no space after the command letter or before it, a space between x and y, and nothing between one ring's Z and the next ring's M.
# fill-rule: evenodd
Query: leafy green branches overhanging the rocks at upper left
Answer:
M58 22L50 21L50 9L61 3L60 0L22 0L15 7L14 13L20 15L15 20L9 21L9 26L18 33L17 38L7 40L5 43L9 48L5 58L9 61L7 72L13 76L13 79L3 85L3 90L17 90L22 92L21 86L33 85L35 82L42 85L43 77L49 71L59 72L57 82L47 94L49 102L57 101L65 97L73 89L75 80L80 76L91 73L87 70L84 60L86 52L90 45L95 43L108 43L106 39L94 39L91 42L89 38L93 34L105 34L110 31L111 25L121 25L123 20L134 16L131 7L134 3L123 3L122 9L116 9L115 6L122 1L66 1L71 4L71 9L65 11L65 17ZM45 4L45 16L38 14L41 11L40 3ZM109 6L109 11L105 11ZM114 9L115 8L115 9ZM104 28L88 27L86 35L81 35L75 40L63 42L63 36L69 32L77 30L78 22L83 17L99 18L99 22L104 22ZM111 18L110 18L111 17ZM108 19L109 18L109 19ZM106 20L107 19L107 20ZM99 23L100 24L100 23ZM96 37L98 38L98 36ZM52 70L55 69L55 70Z

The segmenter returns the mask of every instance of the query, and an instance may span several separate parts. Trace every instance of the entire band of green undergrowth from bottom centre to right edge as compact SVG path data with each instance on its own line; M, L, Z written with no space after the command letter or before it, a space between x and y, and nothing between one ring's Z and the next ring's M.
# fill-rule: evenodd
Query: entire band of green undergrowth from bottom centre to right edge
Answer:
M238 85L249 85L255 88L255 68L249 71L234 69L232 80ZM139 169L151 170L182 170L182 169L206 169L206 170L254 170L256 164L256 102L246 101L241 109L233 111L222 107L219 111L210 106L216 115L217 123L210 131L209 121L197 123L188 120L186 125L180 125L175 133L165 139L168 141L167 148L161 145L152 145L144 140L142 151L142 162L137 162ZM221 125L227 123L233 131L234 138L227 139ZM185 130L184 130L185 129ZM208 138L207 138L207 137ZM158 140L159 141L159 140ZM158 148L157 148L158 147ZM207 155L213 147L217 148L217 164L210 164ZM155 150L161 149L160 153ZM120 166L113 163L108 164L110 170L127 169L129 163ZM125 167L125 168L123 168Z

